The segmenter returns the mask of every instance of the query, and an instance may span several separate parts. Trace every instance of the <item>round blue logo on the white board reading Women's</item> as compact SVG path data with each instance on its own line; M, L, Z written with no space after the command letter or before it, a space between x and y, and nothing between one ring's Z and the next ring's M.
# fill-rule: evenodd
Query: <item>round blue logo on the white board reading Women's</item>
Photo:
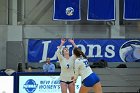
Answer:
M36 82L33 79L29 79L23 85L23 88L25 88L27 93L33 93L36 90L37 86L38 84L36 84Z

